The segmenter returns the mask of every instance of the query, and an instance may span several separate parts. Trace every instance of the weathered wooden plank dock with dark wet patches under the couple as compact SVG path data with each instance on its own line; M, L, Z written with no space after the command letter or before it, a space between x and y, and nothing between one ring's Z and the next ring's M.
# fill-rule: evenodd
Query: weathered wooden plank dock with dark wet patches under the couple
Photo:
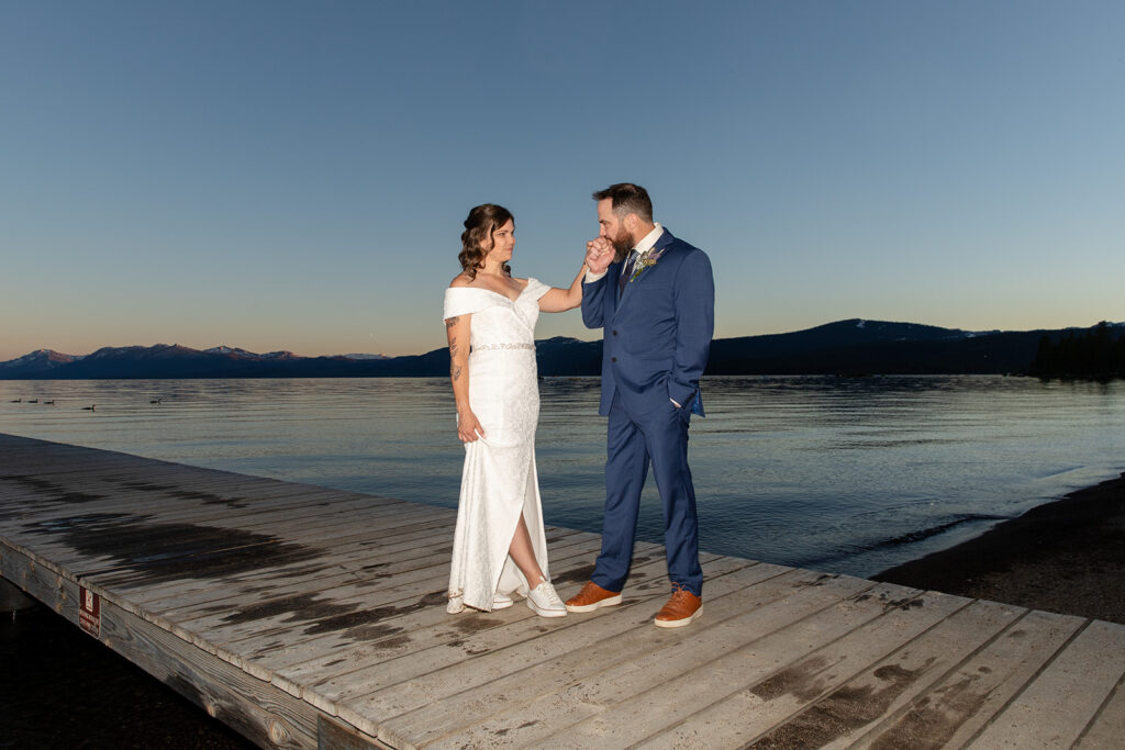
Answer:
M448 615L454 513L0 434L0 575L261 747L1122 748L1125 626L704 555ZM548 530L566 597L595 534Z

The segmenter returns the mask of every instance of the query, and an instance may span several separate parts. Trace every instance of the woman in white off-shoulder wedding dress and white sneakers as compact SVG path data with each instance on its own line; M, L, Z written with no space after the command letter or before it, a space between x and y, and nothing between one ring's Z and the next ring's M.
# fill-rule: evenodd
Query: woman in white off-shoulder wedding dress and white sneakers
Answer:
M465 219L461 273L446 290L450 379L465 468L449 576L450 613L512 606L512 591L543 617L566 615L547 571L536 426L536 320L582 304L569 289L511 274L515 219L493 204Z

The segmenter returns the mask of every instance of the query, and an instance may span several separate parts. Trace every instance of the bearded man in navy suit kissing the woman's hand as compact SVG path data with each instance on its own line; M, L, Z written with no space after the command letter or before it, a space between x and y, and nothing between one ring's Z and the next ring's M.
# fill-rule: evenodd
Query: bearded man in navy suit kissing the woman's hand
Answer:
M652 222L652 201L640 186L612 184L594 200L601 231L587 243L582 318L604 329L605 515L591 580L566 606L593 612L621 603L651 462L672 581L672 598L655 622L682 627L703 604L687 425L692 412L703 416L699 382L714 329L711 262Z

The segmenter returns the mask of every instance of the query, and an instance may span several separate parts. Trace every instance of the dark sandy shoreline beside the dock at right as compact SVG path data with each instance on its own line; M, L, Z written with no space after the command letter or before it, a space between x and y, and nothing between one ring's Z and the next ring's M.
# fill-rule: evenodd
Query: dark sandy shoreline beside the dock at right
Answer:
M1125 623L1125 473L872 578Z

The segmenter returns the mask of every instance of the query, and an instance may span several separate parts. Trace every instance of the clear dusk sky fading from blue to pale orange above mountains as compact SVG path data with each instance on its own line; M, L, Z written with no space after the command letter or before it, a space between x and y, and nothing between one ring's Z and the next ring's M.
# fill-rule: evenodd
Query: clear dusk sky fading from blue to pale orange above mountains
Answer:
M471 206L566 284L623 180L718 336L1122 320L1123 39L1115 0L0 2L0 361L435 349Z

